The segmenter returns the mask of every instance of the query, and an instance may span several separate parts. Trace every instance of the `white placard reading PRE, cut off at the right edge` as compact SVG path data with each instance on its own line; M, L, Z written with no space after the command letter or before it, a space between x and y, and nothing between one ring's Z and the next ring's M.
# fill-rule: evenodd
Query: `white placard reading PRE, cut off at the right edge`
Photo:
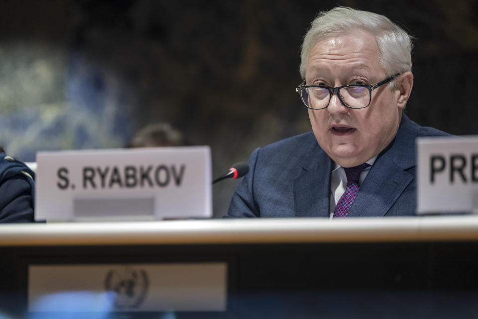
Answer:
M478 213L478 137L417 139L417 213Z

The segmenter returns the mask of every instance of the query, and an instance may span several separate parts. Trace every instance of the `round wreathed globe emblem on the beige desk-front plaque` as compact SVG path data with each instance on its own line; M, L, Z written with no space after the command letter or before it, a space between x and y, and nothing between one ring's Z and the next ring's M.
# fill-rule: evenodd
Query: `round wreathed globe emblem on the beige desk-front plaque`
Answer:
M138 308L146 299L148 288L148 276L142 269L117 268L106 275L105 289L112 293L114 307L118 309Z

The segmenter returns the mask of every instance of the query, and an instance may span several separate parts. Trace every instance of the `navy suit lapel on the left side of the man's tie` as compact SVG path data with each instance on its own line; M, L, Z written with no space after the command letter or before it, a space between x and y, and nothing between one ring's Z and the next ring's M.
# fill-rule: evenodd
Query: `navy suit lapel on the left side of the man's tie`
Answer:
M319 147L302 160L302 172L294 180L296 217L328 217L332 160Z

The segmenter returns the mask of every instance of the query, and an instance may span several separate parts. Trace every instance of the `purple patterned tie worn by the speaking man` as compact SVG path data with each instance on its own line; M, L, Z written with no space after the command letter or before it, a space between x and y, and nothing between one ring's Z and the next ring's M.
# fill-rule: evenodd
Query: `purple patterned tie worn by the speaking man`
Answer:
M344 167L347 175L347 188L335 206L334 218L345 218L359 192L359 176L362 170L370 166L367 163L354 167Z

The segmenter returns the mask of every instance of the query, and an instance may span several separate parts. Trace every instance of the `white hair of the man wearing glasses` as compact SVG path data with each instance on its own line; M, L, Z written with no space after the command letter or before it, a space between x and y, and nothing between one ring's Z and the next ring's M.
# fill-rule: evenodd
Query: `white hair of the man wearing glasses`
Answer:
M302 43L300 74L305 79L307 59L312 47L330 36L363 30L373 36L380 50L380 64L387 75L412 70L412 36L386 16L339 6L320 12L311 23Z

